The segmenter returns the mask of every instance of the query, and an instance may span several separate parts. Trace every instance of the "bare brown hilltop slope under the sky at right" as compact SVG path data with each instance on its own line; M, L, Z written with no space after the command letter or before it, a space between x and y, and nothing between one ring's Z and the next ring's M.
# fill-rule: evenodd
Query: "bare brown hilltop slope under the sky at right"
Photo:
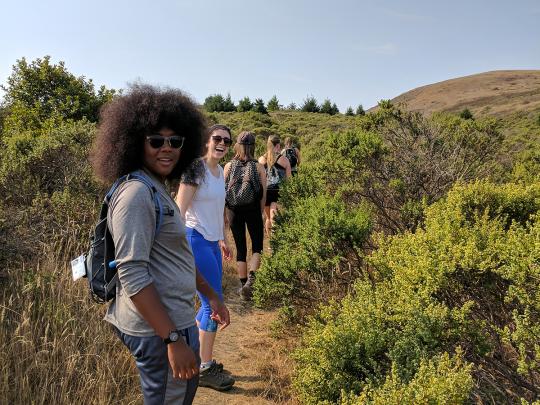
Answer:
M475 115L540 109L540 70L499 70L418 87L392 99L426 114L468 108Z

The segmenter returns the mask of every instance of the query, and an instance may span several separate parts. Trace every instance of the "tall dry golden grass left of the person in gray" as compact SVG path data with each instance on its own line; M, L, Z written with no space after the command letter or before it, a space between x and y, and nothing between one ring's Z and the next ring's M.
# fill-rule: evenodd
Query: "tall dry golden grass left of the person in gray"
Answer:
M0 304L0 403L135 404L137 371L91 303L73 283L66 257L44 249L36 264L7 270Z

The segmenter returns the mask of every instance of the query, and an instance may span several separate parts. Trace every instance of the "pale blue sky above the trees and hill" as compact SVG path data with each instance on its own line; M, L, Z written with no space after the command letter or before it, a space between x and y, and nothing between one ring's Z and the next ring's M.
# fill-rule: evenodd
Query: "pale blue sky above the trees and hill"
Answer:
M372 107L412 88L540 69L540 0L4 0L0 82L50 55L96 85L141 80L297 105Z

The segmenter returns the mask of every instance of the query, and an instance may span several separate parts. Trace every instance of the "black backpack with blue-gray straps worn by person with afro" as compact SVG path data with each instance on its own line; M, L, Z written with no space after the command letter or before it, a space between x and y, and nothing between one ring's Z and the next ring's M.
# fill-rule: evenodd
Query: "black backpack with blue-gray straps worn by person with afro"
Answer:
M114 182L103 199L99 212L99 221L90 235L90 248L85 256L86 277L90 286L92 299L99 303L110 301L116 296L116 275L114 242L107 226L109 202L118 186L127 180L137 180L148 186L156 206L156 236L160 231L163 219L163 208L159 193L152 182L141 173L130 173Z

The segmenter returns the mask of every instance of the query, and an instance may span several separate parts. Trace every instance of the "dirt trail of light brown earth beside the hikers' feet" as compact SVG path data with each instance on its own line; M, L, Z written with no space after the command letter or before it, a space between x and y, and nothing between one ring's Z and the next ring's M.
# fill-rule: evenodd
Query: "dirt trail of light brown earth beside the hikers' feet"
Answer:
M228 267L228 266L227 266ZM231 324L218 332L214 358L222 362L225 370L236 380L230 391L218 392L199 387L194 404L276 404L272 383L272 366L265 359L275 359L272 353L276 344L269 337L269 325L274 312L254 308L240 299L236 293L239 283L232 269L224 269L223 290L231 313ZM270 370L270 372L268 372Z

